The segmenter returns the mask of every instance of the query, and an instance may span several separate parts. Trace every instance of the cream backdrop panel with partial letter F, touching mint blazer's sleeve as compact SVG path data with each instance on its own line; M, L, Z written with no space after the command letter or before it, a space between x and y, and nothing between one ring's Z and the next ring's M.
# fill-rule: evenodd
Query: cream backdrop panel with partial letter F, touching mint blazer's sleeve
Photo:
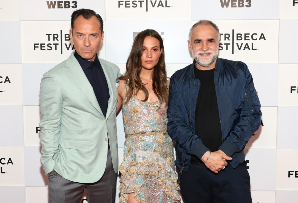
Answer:
M23 106L24 144L25 146L41 146L40 143L40 107Z

